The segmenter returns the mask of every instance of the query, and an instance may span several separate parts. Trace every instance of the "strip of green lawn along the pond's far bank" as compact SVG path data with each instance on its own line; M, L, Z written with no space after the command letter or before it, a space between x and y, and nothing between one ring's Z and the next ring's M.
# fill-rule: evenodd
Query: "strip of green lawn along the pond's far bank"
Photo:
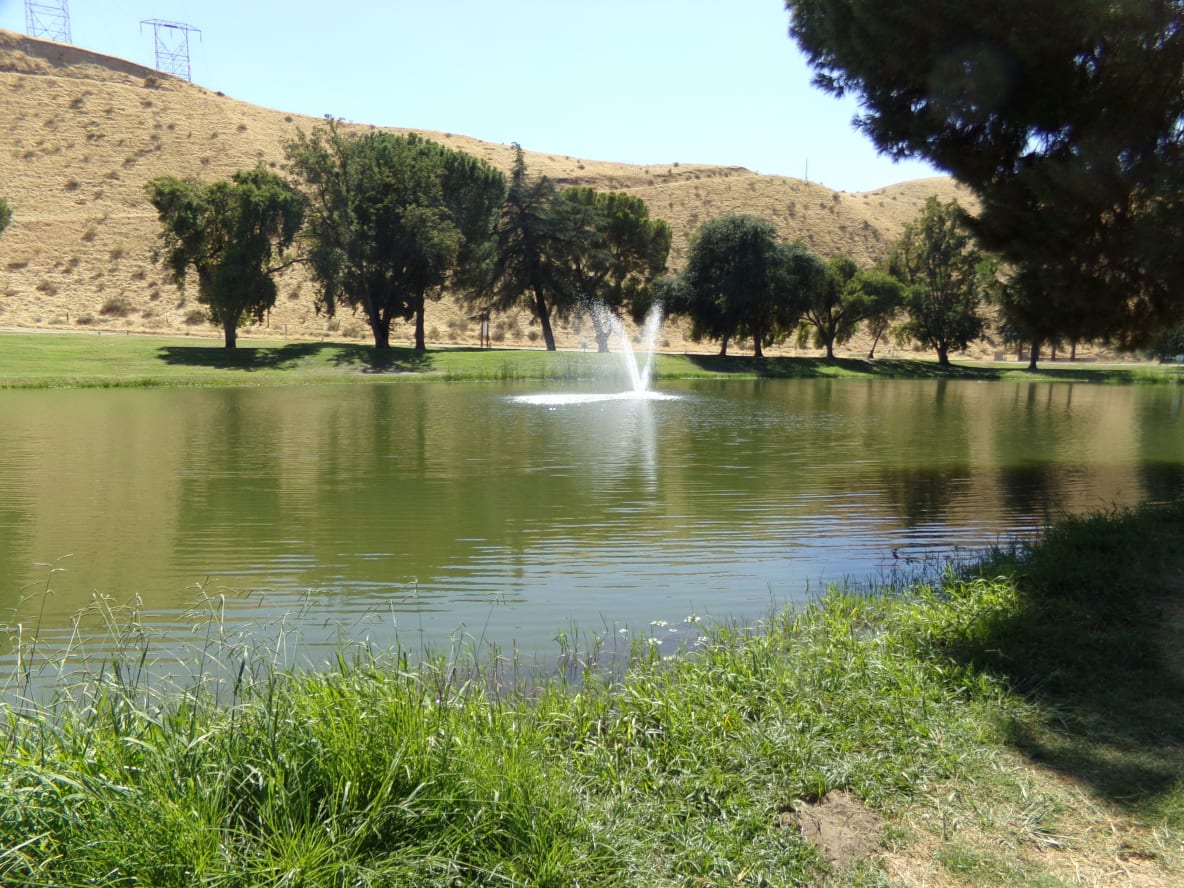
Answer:
M624 382L620 358L584 352L430 349L417 353L340 342L251 342L234 350L215 341L94 334L0 335L0 387L135 387L297 385L361 380L554 380ZM659 355L658 379L887 378L1017 379L1080 382L1179 382L1179 368L1049 365L1028 373L1016 365L958 365L929 360L864 361L816 358Z

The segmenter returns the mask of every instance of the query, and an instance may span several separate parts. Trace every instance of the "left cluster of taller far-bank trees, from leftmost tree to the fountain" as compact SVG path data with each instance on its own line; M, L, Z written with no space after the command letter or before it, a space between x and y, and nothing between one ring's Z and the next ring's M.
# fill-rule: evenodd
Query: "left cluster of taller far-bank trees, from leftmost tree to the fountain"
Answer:
M275 304L272 277L292 262L307 264L317 310L361 311L378 348L390 347L394 321L412 322L417 349L426 347L425 305L446 290L484 317L527 309L554 349L553 318L592 302L643 315L667 268L670 226L650 219L644 201L561 191L529 175L517 146L508 181L417 135L358 135L332 118L284 150L292 182L259 167L213 185L175 176L147 185L161 258L179 285L197 275L199 301L229 348L240 324ZM607 349L600 317L597 341Z

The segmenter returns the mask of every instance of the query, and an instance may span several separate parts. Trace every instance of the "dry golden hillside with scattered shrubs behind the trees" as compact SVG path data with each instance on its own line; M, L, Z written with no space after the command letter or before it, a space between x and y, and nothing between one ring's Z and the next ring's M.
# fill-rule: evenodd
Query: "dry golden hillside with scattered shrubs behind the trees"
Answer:
M153 263L157 223L144 182L157 175L212 180L258 162L281 168L283 144L321 121L238 102L122 59L0 31L0 197L13 221L0 238L0 327L192 333L215 336L192 291L179 292ZM359 127L361 128L361 127ZM410 130L394 130L410 131ZM451 133L422 133L508 169L511 147ZM926 179L848 194L740 167L671 162L635 166L527 152L535 174L642 197L674 229L671 270L695 227L722 213L767 217L787 239L822 256L880 258L926 198L965 194ZM281 282L269 322L244 335L365 340L359 316L318 316L297 270ZM476 326L451 301L429 308L433 342L476 341ZM583 335L581 335L583 333ZM495 340L530 345L526 316L495 318ZM411 330L393 332L392 341ZM561 347L587 339L559 324ZM667 328L667 348L687 346ZM700 347L709 348L709 346Z

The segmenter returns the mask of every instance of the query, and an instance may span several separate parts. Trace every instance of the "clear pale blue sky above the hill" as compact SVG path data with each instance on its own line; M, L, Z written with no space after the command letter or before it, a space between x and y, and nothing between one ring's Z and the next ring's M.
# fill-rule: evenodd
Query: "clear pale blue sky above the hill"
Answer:
M57 5L59 0L38 0ZM869 191L935 175L877 156L810 84L783 0L67 0L72 43L283 111L630 163L719 163ZM0 28L26 31L25 0Z

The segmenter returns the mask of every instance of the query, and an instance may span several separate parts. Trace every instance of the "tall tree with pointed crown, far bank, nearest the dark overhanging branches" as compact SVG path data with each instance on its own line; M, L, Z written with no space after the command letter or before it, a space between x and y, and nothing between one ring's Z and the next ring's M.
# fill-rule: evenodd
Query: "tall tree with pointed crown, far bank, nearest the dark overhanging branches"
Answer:
M905 285L908 321L903 332L938 353L950 366L950 350L966 348L983 333L979 313L992 268L966 230L957 202L929 198L905 227L889 260Z

